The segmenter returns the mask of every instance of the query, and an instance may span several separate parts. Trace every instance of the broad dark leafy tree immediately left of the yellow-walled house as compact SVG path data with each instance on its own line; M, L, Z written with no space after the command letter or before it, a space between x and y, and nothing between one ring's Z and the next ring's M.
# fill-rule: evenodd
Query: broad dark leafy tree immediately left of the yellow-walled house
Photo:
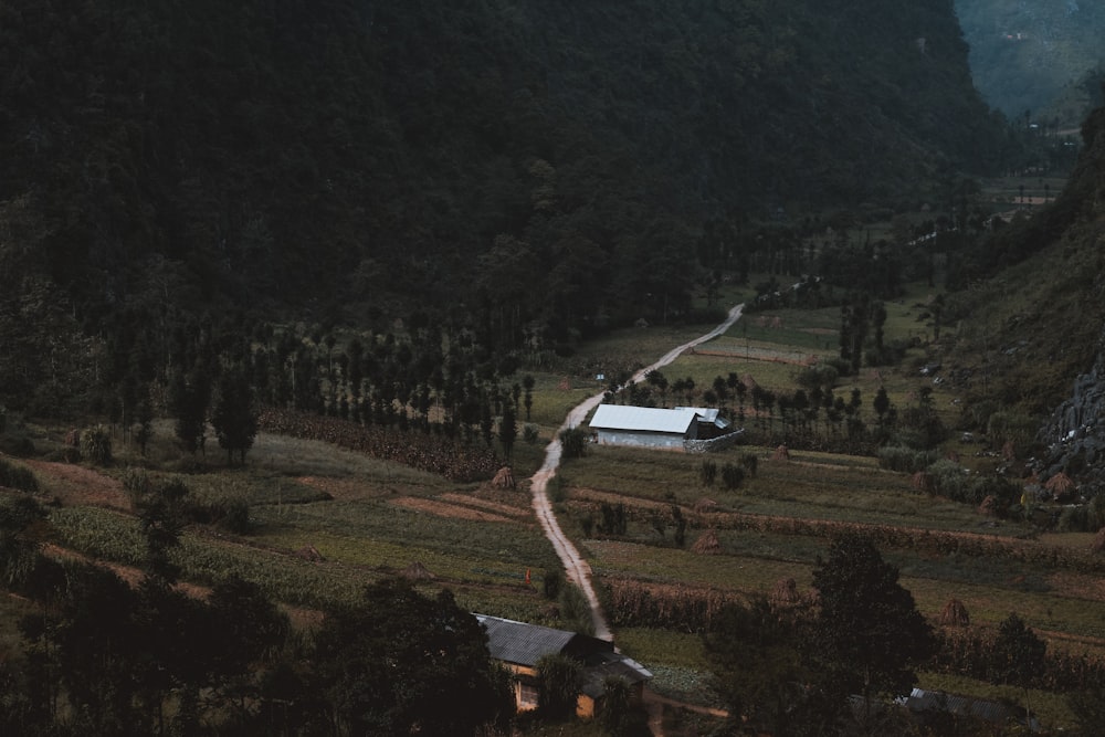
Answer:
M401 579L367 587L326 618L315 660L344 734L473 735L514 710L486 633L449 590L431 599Z

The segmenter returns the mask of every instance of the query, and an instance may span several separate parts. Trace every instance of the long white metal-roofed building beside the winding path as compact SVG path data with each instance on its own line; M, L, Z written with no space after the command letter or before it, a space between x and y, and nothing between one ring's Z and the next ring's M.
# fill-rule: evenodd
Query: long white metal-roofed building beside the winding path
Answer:
M687 441L715 438L728 430L716 409L599 404L590 421L596 440L608 445L683 449Z

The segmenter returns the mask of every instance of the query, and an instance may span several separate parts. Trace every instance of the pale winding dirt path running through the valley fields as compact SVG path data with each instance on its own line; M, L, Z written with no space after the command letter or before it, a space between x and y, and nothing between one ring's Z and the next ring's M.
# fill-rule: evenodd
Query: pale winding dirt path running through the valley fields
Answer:
M667 366L678 358L683 351L724 334L733 326L734 323L737 322L737 319L739 319L743 309L744 304L737 305L729 310L729 315L726 317L724 323L715 327L706 335L699 336L694 340L684 343L682 346L667 351L655 364L646 366L634 373L629 380L629 383L638 383L639 381L642 381L649 371ZM598 407L604 396L604 391L594 394L593 397L583 400L580 404L576 406L570 412L568 412L567 419L565 419L564 424L561 424L559 430L557 430L552 438L552 442L546 446L545 463L541 464L541 467L538 468L537 473L535 473L529 480L529 489L534 495L534 512L537 513L537 519L540 522L541 528L545 530L545 536L549 538L550 543L552 543L552 548L556 550L557 556L559 556L560 561L564 564L568 580L582 590L583 594L587 597L587 601L591 606L591 621L594 624L594 636L600 640L612 641L613 633L610 631L607 618L602 613L602 607L599 604L599 598L594 593L594 587L591 585L591 567L587 564L583 557L579 555L579 550L576 549L576 546L572 545L571 540L569 540L564 534L564 530L560 529L560 524L557 522L556 514L552 512L552 504L549 502L548 494L546 493L549 480L556 475L556 470L560 466L560 454L564 451L564 448L560 444L560 433L565 430L582 424L588 412Z

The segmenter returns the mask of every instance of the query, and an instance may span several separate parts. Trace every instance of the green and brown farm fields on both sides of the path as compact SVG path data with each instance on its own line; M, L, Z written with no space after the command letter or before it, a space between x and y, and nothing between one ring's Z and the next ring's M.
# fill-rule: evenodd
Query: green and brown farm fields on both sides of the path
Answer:
M929 360L924 331L930 328L920 319L927 298L927 289L917 287L887 305L887 339L918 339L903 364L864 369L834 388L843 396L860 389L860 414L870 423L878 387L899 409L915 406L919 390L930 388L944 423L955 428L958 421L955 394L918 370ZM811 357L833 355L839 319L831 309L746 316L728 335L663 372L672 380L691 377L701 388L736 372L774 391L793 391L797 372ZM151 451L151 465L159 470L151 474L182 478L206 503L249 505L249 531L189 528L175 562L183 579L199 587L238 573L286 607L306 611L307 621L312 610L355 601L367 583L406 575L427 590L450 588L471 611L570 627L562 601L541 590L559 562L534 518L527 480L568 410L603 390L598 373L636 370L709 327L630 328L581 347L560 370L534 372L530 417L519 421L533 423L538 439L515 445L516 489L495 488L490 481L451 482L269 433L257 436L244 467L228 468L220 456L188 464L173 455L171 428L161 422ZM778 417L765 422L780 427ZM994 464L982 445L954 446L968 466ZM737 487L704 482L705 459L745 466L749 456L755 470ZM54 502L51 544L59 550L118 567L141 565L143 539L123 484L126 460L106 472L29 462L41 482L40 496ZM632 612L619 610L627 592L695 596L708 610L729 599L770 596L793 579L796 590L808 596L812 569L841 529L873 535L929 619L958 598L977 628L992 630L1017 612L1053 652L1105 657L1105 559L1090 554L1091 535L1039 534L1023 522L983 516L971 505L922 493L909 474L886 471L871 456L797 449L780 455L775 446L753 444L709 456L589 446L583 457L561 466L550 496L565 531L590 561L615 642L653 671L654 689L669 698L719 706L699 635L692 625L633 621ZM624 531L600 533L602 507L619 505ZM682 544L673 506L686 522ZM708 554L696 552L707 535L716 545ZM18 611L10 604L0 614ZM926 678L948 682L943 674ZM957 693L990 693L987 684L969 678L953 685ZM1049 704L1051 724L1070 719L1061 699L1041 694L1036 701Z

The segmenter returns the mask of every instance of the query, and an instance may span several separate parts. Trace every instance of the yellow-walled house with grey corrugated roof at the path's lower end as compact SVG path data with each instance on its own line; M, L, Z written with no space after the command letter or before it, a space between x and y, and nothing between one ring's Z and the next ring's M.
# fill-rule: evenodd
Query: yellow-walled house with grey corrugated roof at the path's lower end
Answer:
M486 614L476 614L476 619L487 631L491 656L514 675L514 701L519 712L537 708L537 661L544 655L560 654L579 661L582 680L576 714L585 718L593 717L601 708L608 676L624 678L638 702L644 683L652 677L643 665L614 652L613 643L606 640Z

